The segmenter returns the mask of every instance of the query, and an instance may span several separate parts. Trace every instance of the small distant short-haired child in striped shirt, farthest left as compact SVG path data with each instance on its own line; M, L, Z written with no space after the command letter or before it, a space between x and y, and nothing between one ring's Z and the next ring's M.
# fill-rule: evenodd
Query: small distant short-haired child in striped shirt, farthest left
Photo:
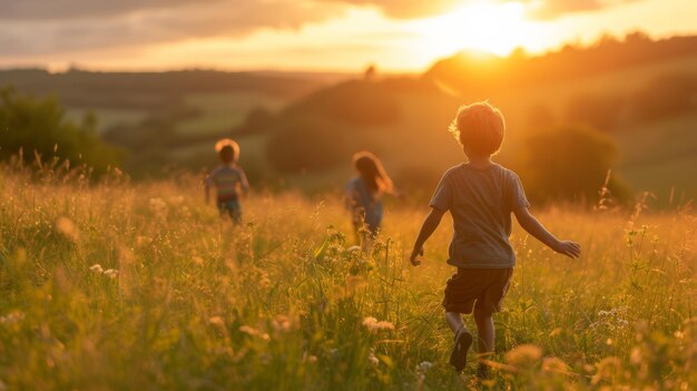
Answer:
M249 190L247 176L244 169L237 165L239 146L232 139L224 138L216 143L215 150L218 153L222 164L206 177L206 204L210 201L210 187L215 187L220 216L229 216L233 223L237 225L242 223L239 198Z

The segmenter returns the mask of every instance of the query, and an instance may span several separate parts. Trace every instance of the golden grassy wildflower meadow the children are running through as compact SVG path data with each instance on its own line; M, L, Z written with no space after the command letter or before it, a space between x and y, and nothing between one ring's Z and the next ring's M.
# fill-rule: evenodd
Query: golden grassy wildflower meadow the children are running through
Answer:
M446 363L449 224L404 262L425 205L390 202L364 254L337 195L253 194L234 228L197 184L0 172L0 389L697 388L689 207L539 211L577 261L516 227L477 385L474 353L462 377Z

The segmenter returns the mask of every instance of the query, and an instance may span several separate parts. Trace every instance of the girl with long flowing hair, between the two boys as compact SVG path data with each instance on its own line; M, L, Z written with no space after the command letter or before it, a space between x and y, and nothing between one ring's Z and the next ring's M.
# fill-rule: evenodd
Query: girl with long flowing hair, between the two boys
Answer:
M353 165L359 175L346 185L346 206L351 211L356 238L366 248L382 224L382 195L393 194L394 189L392 179L375 155L369 151L357 153L353 155ZM364 226L370 236L361 234Z

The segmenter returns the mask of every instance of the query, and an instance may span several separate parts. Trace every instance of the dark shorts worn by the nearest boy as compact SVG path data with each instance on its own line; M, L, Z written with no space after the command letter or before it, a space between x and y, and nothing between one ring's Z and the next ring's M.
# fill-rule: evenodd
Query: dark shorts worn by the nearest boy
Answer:
M508 292L513 267L462 268L445 283L443 307L445 312L469 314L472 307L489 313L501 311L501 302Z

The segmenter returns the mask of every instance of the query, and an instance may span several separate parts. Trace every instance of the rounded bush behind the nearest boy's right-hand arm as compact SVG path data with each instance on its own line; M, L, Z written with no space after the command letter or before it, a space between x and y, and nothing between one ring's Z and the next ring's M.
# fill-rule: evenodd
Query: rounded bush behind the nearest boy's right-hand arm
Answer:
M553 128L524 141L521 176L533 199L596 203L617 155L615 140L595 128ZM607 187L620 202L630 197L616 177Z

